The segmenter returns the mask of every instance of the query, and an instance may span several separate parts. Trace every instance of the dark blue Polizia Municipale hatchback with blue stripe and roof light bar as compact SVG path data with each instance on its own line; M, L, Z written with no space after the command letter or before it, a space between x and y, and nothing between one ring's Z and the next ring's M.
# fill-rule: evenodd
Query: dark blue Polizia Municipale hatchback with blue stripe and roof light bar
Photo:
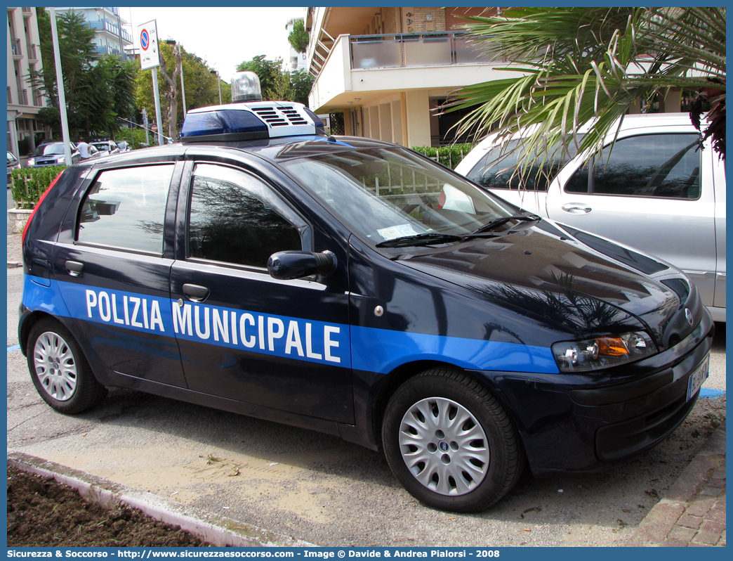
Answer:
M21 346L56 410L121 386L339 435L458 512L526 466L658 444L713 334L674 267L291 102L195 109L179 144L68 167L23 263Z

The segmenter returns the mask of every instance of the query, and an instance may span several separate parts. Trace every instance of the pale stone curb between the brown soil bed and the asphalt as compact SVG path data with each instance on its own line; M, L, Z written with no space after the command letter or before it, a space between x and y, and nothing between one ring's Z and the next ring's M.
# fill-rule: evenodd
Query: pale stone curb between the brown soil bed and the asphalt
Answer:
M17 450L7 450L7 463L28 473L45 478L52 477L59 483L76 489L85 500L95 502L103 508L111 509L119 504L126 504L141 510L155 520L172 526L180 526L181 529L190 532L196 538L212 543L214 546L318 547L312 543L279 535L206 510L187 507L153 493L138 491L127 485L121 485Z

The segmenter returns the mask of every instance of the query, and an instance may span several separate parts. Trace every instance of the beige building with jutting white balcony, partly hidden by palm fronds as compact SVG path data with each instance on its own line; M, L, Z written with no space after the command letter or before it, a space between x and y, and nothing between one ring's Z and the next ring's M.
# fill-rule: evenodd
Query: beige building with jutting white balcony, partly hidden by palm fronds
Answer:
M471 43L467 15L496 7L309 7L307 62L315 82L309 104L338 120L345 134L406 146L454 140L459 115L435 115L457 88L516 74ZM334 120L334 119L332 119Z

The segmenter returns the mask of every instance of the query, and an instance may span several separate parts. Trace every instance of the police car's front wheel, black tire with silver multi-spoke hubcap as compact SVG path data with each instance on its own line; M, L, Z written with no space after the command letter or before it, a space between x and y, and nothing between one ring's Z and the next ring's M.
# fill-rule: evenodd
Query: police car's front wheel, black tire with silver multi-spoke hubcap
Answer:
M526 465L517 431L496 397L451 370L428 370L397 388L384 415L382 443L412 496L457 513L496 503Z

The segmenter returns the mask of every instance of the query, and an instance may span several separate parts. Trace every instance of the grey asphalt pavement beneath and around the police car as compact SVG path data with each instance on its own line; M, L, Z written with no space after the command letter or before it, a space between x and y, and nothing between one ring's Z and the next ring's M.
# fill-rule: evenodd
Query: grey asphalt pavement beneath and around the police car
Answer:
M15 329L22 269L8 269L9 448L322 546L622 545L698 452L725 398L699 399L670 438L600 474L522 479L476 515L431 510L383 457L339 438L128 390L79 416L29 380ZM704 388L724 391L725 327Z

